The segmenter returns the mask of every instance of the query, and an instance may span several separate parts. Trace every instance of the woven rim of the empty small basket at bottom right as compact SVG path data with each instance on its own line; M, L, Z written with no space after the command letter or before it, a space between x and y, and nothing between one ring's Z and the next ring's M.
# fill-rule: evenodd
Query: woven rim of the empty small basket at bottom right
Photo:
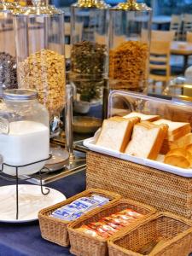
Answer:
M181 216L178 216L176 214L172 214L170 212L157 212L154 215L149 216L148 218L143 219L141 222L139 222L137 225L133 226L127 226L124 230L120 230L117 234L111 236L108 239L108 247L113 247L117 250L119 250L122 253L131 253L132 255L143 255L134 251L131 251L129 249L126 249L124 247L121 247L115 243L115 241L121 240L123 237L127 236L129 233L131 233L134 230L137 230L139 227L143 226L144 224L148 224L150 221L161 218L161 217L168 217L173 218L177 221L182 222L183 224L189 225L189 229L185 230L181 233L179 233L177 236L173 237L172 239L165 241L161 247L158 248L158 251L156 253L162 252L162 250L166 249L167 247L171 246L172 244L176 243L177 241L181 240L184 236L188 236L190 233L192 233L192 223L189 221L189 219L183 218ZM148 254L151 255L152 254Z

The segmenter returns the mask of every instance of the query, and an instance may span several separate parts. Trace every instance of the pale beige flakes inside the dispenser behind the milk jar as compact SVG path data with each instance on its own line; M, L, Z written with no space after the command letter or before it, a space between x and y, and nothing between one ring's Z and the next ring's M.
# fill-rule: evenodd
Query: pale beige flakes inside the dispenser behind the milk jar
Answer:
M57 115L65 104L65 58L53 50L41 49L19 63L19 87L38 90L39 102Z

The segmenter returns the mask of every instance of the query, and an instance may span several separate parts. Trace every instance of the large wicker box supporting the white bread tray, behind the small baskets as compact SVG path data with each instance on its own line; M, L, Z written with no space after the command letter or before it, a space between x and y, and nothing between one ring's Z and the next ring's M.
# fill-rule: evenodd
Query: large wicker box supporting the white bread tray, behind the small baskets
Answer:
M91 151L87 154L86 175L87 189L105 188L160 212L192 219L192 178Z

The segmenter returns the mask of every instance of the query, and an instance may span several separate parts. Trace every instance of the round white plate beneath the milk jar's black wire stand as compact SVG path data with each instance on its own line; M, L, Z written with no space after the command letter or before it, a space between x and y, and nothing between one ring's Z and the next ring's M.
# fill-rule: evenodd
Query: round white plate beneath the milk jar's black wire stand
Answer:
M43 187L46 192L46 187ZM0 222L23 223L38 219L38 212L65 201L61 192L50 189L48 195L42 195L38 185L19 185L19 219L16 219L16 185L0 187Z

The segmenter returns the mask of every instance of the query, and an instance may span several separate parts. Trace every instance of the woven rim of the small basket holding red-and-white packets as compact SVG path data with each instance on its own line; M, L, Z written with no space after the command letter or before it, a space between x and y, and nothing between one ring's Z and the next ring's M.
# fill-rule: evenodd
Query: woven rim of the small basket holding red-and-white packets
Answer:
M146 214L143 218L148 218L147 216L150 216L150 215L153 215L154 212L156 212L156 209L154 209L154 207L149 207L147 205L144 205L143 203L140 203L140 202L137 202L137 201L132 201L132 200L129 200L129 199L120 199L119 201L114 201L113 203L111 203L110 205L108 206L105 206L105 207L102 207L102 208L99 208L99 209L96 209L96 210L93 210L92 212L88 213L88 214L84 214L83 217L81 218L78 218L77 220L73 221L72 223L68 224L67 225L67 230L70 232L75 232L75 233L79 233L79 235L81 236L84 236L86 238L89 238L91 240L94 240L94 241L102 241L103 243L108 241L107 239L103 239L103 238L98 238L98 237L93 237L93 236L89 236L81 231L79 231L78 229L76 229L75 227L77 225L79 225L81 222L84 222L84 220L86 219L89 219L91 217L93 217L94 215L96 215L97 213L99 212L103 212L103 211L106 211L108 210L109 208L113 208L113 207L116 207L120 204L131 204L133 206L136 206L136 207L141 207L145 210L148 211L148 214ZM142 221L143 218L139 218L138 222ZM137 225L137 221L133 224L130 224L129 226L135 226ZM124 230L124 228L122 228ZM119 233L120 231L118 231L117 233ZM114 235L113 235L114 236ZM111 236L111 237L113 237Z

